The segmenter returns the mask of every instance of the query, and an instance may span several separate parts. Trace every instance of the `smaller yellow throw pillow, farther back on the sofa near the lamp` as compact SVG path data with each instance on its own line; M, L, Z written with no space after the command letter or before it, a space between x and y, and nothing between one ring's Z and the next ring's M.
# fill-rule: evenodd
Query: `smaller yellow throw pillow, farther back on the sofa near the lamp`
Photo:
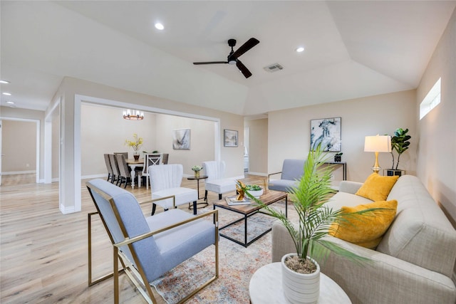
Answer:
M382 177L378 173L369 175L363 186L356 192L356 195L371 199L371 201L384 201L391 189L398 180L399 176Z

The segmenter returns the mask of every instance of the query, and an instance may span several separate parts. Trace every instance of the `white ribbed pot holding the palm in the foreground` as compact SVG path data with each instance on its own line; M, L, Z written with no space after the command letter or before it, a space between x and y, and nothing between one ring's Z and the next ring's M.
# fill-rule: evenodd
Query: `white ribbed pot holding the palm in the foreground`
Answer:
M316 264L316 271L310 274L296 273L285 266L285 259L289 256L296 256L296 253L289 253L282 257L282 287L285 298L291 303L317 303L320 295L320 266Z

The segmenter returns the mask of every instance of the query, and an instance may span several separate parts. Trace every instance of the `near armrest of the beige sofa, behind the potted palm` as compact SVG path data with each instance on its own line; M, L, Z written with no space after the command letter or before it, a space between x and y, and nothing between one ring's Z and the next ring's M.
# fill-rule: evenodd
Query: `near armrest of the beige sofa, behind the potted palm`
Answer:
M456 287L451 278L429 271L393 256L328 237L349 251L369 258L359 265L331 253L318 261L321 271L336 281L356 303L455 303ZM272 227L272 261L285 253L296 252L285 227L275 222Z

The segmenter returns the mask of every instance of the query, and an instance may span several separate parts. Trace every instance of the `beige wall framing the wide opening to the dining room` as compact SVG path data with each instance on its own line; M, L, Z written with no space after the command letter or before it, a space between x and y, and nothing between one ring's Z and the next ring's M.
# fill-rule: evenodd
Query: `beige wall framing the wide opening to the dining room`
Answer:
M242 145L236 148L225 148L222 145L222 130L243 130L244 117L241 115L189 105L184 103L185 100L182 100L181 103L150 95L133 93L119 88L112 88L106 85L99 85L86 80L64 78L48 108L53 108L59 101L61 103L60 130L61 138L63 139L61 145L61 169L63 171L60 177L60 209L64 214L81 210L81 185L80 181L78 181L79 170L81 168L75 166L78 163L78 157L82 148L82 143L75 141L75 134L79 132L78 128L81 124L81 121L75 120L75 112L77 113L81 108L76 103L76 95L89 97L82 98L82 102L98 98L98 100L112 101L116 104L125 105L126 108L138 108L140 110L147 108L150 112L154 112L152 111L153 109L160 109L161 111L159 112L167 112L168 114L176 112L177 115L191 116L194 118L213 117L214 121L218 121L220 125L218 134L220 142L218 143L219 150L217 151L220 159L223 159L228 164L227 174L229 176L243 176L244 174ZM185 113L185 115L182 113ZM239 142L243 142L243 140L243 132L239 132ZM206 143L204 147L214 150L214 146L211 147L209 145ZM217 143L214 145L217 145ZM215 155L215 157L218 158L218 155Z

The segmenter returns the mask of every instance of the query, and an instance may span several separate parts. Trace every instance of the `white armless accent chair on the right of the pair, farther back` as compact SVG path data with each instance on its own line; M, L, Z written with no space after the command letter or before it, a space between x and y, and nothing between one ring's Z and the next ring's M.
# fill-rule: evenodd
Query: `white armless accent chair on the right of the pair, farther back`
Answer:
M215 192L219 194L219 199L222 199L222 194L232 192L236 190L236 178L228 177L225 178L225 167L224 161L209 161L202 163L202 169L204 174L207 175L206 190L204 192L204 200L207 201L207 192Z

